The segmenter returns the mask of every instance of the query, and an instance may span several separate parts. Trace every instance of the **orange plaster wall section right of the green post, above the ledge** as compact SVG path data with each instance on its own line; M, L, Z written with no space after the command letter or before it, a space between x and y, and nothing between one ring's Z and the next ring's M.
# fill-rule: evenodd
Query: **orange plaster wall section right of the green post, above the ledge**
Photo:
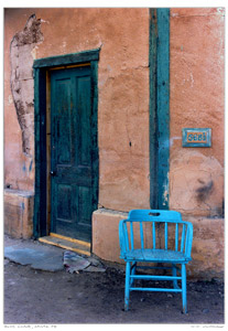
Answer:
M221 216L225 10L171 9L170 29L170 207ZM211 128L211 148L183 148L182 128Z

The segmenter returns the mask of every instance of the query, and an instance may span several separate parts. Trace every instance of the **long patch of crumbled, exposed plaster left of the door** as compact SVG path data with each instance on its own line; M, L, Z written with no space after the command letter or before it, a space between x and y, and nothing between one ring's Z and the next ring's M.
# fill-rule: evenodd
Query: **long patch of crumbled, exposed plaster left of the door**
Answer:
M41 20L32 14L24 29L13 36L10 44L11 92L18 121L22 131L22 149L25 156L33 154L34 105L33 57L36 44L43 42Z

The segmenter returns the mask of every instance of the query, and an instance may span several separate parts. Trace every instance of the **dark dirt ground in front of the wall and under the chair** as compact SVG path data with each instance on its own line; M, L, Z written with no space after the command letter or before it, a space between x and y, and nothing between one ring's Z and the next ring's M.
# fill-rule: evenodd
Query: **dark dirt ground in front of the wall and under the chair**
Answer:
M6 260L4 324L222 324L224 285L187 282L188 313L180 293L139 292L123 310L124 271L47 273ZM220 325L221 327L221 325Z

